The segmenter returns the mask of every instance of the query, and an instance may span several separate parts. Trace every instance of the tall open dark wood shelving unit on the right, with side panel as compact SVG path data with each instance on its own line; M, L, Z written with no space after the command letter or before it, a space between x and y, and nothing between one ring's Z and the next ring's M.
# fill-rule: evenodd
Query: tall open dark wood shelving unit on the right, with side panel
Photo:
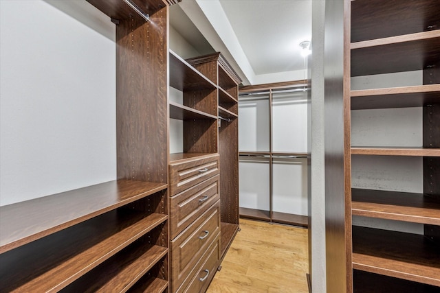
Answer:
M332 36L327 58L338 60L325 66L338 63L335 70L342 72L338 78L325 77L326 115L334 113L326 116L326 135L332 136L325 147L326 162L331 162L326 163L326 180L331 181L326 186L326 194L331 194L326 196L327 291L438 292L440 5L436 0L344 1L326 14L326 23L326 38ZM406 71L422 71L422 84L350 88L353 77ZM406 107L422 108L421 147L351 145L351 110ZM352 189L351 174L363 167L357 163L356 170L351 169L351 158L357 155L420 157L423 191ZM352 226L352 215L423 226L417 225L421 235L383 230L377 221L371 221L376 228ZM333 278L336 275L341 278Z

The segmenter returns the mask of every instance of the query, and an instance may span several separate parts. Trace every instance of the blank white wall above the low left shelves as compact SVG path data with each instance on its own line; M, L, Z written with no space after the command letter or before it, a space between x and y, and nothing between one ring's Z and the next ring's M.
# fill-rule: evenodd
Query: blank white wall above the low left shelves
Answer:
M115 26L50 2L0 1L1 205L116 177Z

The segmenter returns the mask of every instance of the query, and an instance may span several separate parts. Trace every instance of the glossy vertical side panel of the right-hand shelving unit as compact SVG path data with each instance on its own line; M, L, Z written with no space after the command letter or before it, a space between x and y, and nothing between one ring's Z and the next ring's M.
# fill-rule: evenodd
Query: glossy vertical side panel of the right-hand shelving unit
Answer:
M347 10L344 13L344 9ZM327 292L352 292L350 211L350 1L325 6Z

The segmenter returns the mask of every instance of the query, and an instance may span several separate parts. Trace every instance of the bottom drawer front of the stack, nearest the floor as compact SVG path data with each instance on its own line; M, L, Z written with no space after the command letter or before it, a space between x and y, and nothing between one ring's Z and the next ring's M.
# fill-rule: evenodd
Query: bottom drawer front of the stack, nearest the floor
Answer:
M212 278L214 278L217 268L219 267L221 257L220 249L219 235L218 239L211 244L207 253L203 255L199 265L196 266L195 270L192 272L192 277L186 279L181 285L181 288L178 290L179 293L195 293L206 291Z

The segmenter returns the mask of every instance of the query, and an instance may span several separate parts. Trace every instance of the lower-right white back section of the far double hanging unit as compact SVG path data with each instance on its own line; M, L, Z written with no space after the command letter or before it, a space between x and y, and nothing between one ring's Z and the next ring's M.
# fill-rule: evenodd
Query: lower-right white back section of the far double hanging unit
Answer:
M273 211L307 215L307 159L274 159Z

